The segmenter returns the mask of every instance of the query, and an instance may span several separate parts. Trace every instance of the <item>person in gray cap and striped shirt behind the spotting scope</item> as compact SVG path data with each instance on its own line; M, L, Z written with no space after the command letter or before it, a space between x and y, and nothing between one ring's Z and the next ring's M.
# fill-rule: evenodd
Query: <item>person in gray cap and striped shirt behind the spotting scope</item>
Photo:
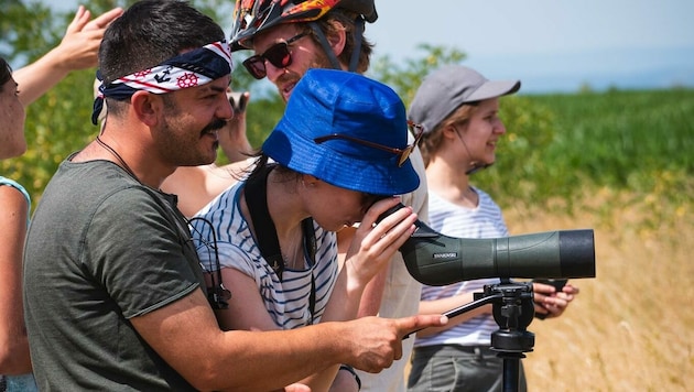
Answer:
M430 226L459 238L508 237L499 206L469 183L469 175L495 162L506 133L499 98L520 89L520 80L488 80L465 66L446 66L429 75L410 106L409 118L424 127L420 149L426 165ZM422 287L420 312L445 312L473 302L473 293L498 279ZM535 313L561 315L578 288L533 284ZM503 359L490 349L499 329L491 305L454 317L448 325L418 333L409 391L501 391ZM520 368L519 389L525 377Z

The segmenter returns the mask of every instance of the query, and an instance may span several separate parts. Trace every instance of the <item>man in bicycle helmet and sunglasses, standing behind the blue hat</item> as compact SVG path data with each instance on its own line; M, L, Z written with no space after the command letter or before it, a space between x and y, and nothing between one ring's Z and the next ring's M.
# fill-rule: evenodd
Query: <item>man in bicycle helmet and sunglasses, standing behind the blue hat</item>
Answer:
M252 50L243 62L256 78L265 76L275 85L284 101L290 99L299 80L310 68L337 68L364 74L369 68L373 44L364 35L367 23L378 13L373 0L239 0L234 10L230 45L232 51ZM409 143L414 137L409 137ZM419 149L410 156L420 187L401 195L402 203L412 206L420 220L427 221L427 190L424 162ZM338 247L344 254L355 228L338 233ZM365 291L359 317L379 315L395 317L419 312L422 285L405 268L400 252L390 260ZM405 390L404 368L413 342L403 341L401 360L378 374L360 372L361 391ZM346 371L338 379L349 380Z

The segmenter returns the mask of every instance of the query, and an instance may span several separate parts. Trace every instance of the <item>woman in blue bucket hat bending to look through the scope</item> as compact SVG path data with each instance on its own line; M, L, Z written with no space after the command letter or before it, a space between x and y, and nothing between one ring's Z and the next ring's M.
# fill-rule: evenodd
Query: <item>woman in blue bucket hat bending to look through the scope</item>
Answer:
M388 86L355 73L311 69L268 137L247 181L192 220L204 265L232 292L218 312L228 329L291 329L357 316L366 284L414 231L416 214L393 195L420 178L405 108ZM335 232L360 222L338 268ZM217 264L218 263L218 264ZM225 304L226 305L226 304ZM302 380L327 390L334 367Z

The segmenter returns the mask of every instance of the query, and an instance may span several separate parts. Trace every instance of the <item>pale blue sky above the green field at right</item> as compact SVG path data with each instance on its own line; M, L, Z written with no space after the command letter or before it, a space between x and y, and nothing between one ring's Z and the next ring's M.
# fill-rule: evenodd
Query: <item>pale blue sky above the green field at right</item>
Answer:
M406 6L405 6L406 4ZM429 0L376 2L376 56L455 47L488 78L521 91L694 87L692 0Z

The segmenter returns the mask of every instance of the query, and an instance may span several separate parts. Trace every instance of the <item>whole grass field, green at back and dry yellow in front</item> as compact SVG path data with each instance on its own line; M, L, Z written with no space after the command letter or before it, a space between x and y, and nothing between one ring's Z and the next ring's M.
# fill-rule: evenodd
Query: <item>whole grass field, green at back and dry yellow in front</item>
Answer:
M530 97L510 118L529 108L552 140L513 154L542 135L507 123L509 150L473 181L512 235L594 229L597 270L529 326L529 389L694 391L694 90Z

